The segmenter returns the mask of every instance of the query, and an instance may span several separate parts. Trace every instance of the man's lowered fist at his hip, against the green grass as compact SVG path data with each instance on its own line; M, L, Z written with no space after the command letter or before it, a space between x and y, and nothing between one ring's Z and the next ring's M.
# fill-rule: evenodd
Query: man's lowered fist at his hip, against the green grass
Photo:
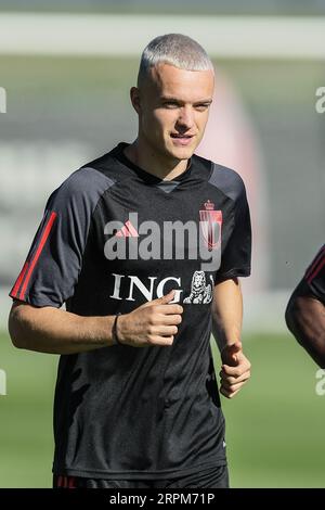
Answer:
M242 343L226 345L221 352L220 393L233 398L250 378L250 362L242 349Z

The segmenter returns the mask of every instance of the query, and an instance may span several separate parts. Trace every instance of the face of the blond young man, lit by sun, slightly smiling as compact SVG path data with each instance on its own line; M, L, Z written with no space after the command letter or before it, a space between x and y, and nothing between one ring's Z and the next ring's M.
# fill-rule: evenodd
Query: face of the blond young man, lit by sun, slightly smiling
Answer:
M139 141L169 161L187 160L200 142L212 102L212 71L159 64L131 99L139 114Z

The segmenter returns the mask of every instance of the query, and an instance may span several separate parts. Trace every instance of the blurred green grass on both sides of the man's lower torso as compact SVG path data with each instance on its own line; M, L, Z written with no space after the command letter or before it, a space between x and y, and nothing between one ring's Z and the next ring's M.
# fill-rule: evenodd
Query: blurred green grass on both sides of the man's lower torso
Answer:
M222 398L233 487L324 487L325 396L315 365L290 335L245 339L252 377ZM0 337L0 487L49 487L57 357L17 350ZM219 365L216 357L216 365Z

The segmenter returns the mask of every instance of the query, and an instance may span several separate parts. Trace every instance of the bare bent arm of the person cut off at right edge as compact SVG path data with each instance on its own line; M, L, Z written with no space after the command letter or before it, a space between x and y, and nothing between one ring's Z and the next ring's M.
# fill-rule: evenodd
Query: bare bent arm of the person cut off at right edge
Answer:
M286 323L313 360L325 368L325 306L312 295L292 293L286 309Z

